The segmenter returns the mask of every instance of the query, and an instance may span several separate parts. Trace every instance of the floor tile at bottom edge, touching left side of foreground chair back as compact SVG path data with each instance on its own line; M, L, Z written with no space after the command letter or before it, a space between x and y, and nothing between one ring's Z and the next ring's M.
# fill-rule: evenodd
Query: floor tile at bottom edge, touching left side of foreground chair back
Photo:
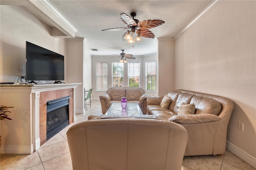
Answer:
M45 170L72 170L70 153L48 160L43 165Z

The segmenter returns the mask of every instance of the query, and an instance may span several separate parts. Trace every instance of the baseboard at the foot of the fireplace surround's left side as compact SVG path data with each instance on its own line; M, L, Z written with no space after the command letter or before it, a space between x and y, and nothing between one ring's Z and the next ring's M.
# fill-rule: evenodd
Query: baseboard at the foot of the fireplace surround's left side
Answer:
M1 154L32 154L33 152L33 145L1 145Z

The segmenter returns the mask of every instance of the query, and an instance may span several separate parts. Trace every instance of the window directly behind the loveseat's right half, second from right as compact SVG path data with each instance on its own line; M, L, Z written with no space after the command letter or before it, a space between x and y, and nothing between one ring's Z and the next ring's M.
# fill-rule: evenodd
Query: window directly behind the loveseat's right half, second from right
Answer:
M140 87L140 62L128 63L128 87Z

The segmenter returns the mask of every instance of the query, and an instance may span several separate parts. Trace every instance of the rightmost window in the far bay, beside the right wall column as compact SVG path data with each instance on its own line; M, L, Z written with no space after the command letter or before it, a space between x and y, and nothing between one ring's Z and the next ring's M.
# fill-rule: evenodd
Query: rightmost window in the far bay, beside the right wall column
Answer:
M146 90L156 91L156 61L146 61Z

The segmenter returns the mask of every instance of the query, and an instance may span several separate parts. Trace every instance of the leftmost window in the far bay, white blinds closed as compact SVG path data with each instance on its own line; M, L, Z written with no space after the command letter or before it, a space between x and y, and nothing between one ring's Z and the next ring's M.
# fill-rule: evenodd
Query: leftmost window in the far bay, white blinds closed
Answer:
M108 89L108 62L96 62L96 90Z

